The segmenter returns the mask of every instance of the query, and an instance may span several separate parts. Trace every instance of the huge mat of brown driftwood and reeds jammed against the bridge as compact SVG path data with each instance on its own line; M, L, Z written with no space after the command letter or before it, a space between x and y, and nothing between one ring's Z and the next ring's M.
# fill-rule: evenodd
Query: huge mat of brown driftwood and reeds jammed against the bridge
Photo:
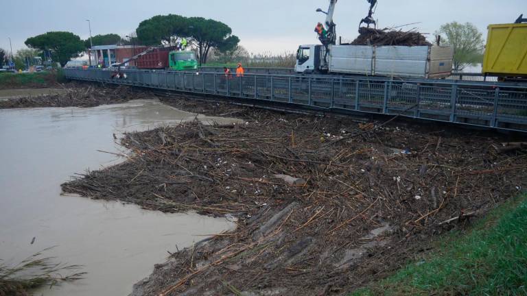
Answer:
M127 162L62 185L237 221L237 230L156 265L133 295L340 295L527 186L525 151L497 153L491 145L511 139L494 134L258 110L236 116L247 122L128 134Z

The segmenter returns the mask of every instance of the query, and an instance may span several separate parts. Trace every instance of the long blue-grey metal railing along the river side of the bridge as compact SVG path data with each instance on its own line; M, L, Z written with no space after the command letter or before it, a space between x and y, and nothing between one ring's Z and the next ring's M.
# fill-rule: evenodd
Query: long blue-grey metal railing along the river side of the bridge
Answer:
M527 131L527 86L445 80L315 77L124 70L65 69L69 79L143 86L188 93L276 101L316 108L401 114L506 130Z

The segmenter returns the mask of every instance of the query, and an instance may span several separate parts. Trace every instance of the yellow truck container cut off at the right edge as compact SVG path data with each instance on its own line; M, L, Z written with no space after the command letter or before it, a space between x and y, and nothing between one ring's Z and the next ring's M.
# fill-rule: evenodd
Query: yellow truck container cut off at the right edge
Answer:
M500 80L527 79L527 19L516 23L489 25L483 74Z

